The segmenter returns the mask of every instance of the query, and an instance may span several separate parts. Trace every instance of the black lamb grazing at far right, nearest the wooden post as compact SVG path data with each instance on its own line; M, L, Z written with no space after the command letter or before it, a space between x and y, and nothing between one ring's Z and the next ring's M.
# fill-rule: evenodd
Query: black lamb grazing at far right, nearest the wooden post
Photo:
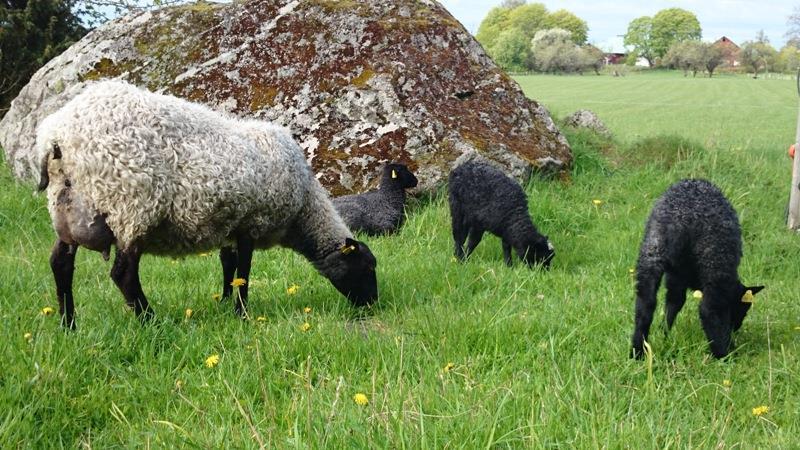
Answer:
M700 322L711 353L717 358L726 356L732 347L731 333L742 326L752 295L764 288L739 281L741 257L739 219L722 192L705 180L683 180L670 186L650 213L639 250L631 356L644 354L664 274L666 330L672 328L686 302L686 290L700 290Z

